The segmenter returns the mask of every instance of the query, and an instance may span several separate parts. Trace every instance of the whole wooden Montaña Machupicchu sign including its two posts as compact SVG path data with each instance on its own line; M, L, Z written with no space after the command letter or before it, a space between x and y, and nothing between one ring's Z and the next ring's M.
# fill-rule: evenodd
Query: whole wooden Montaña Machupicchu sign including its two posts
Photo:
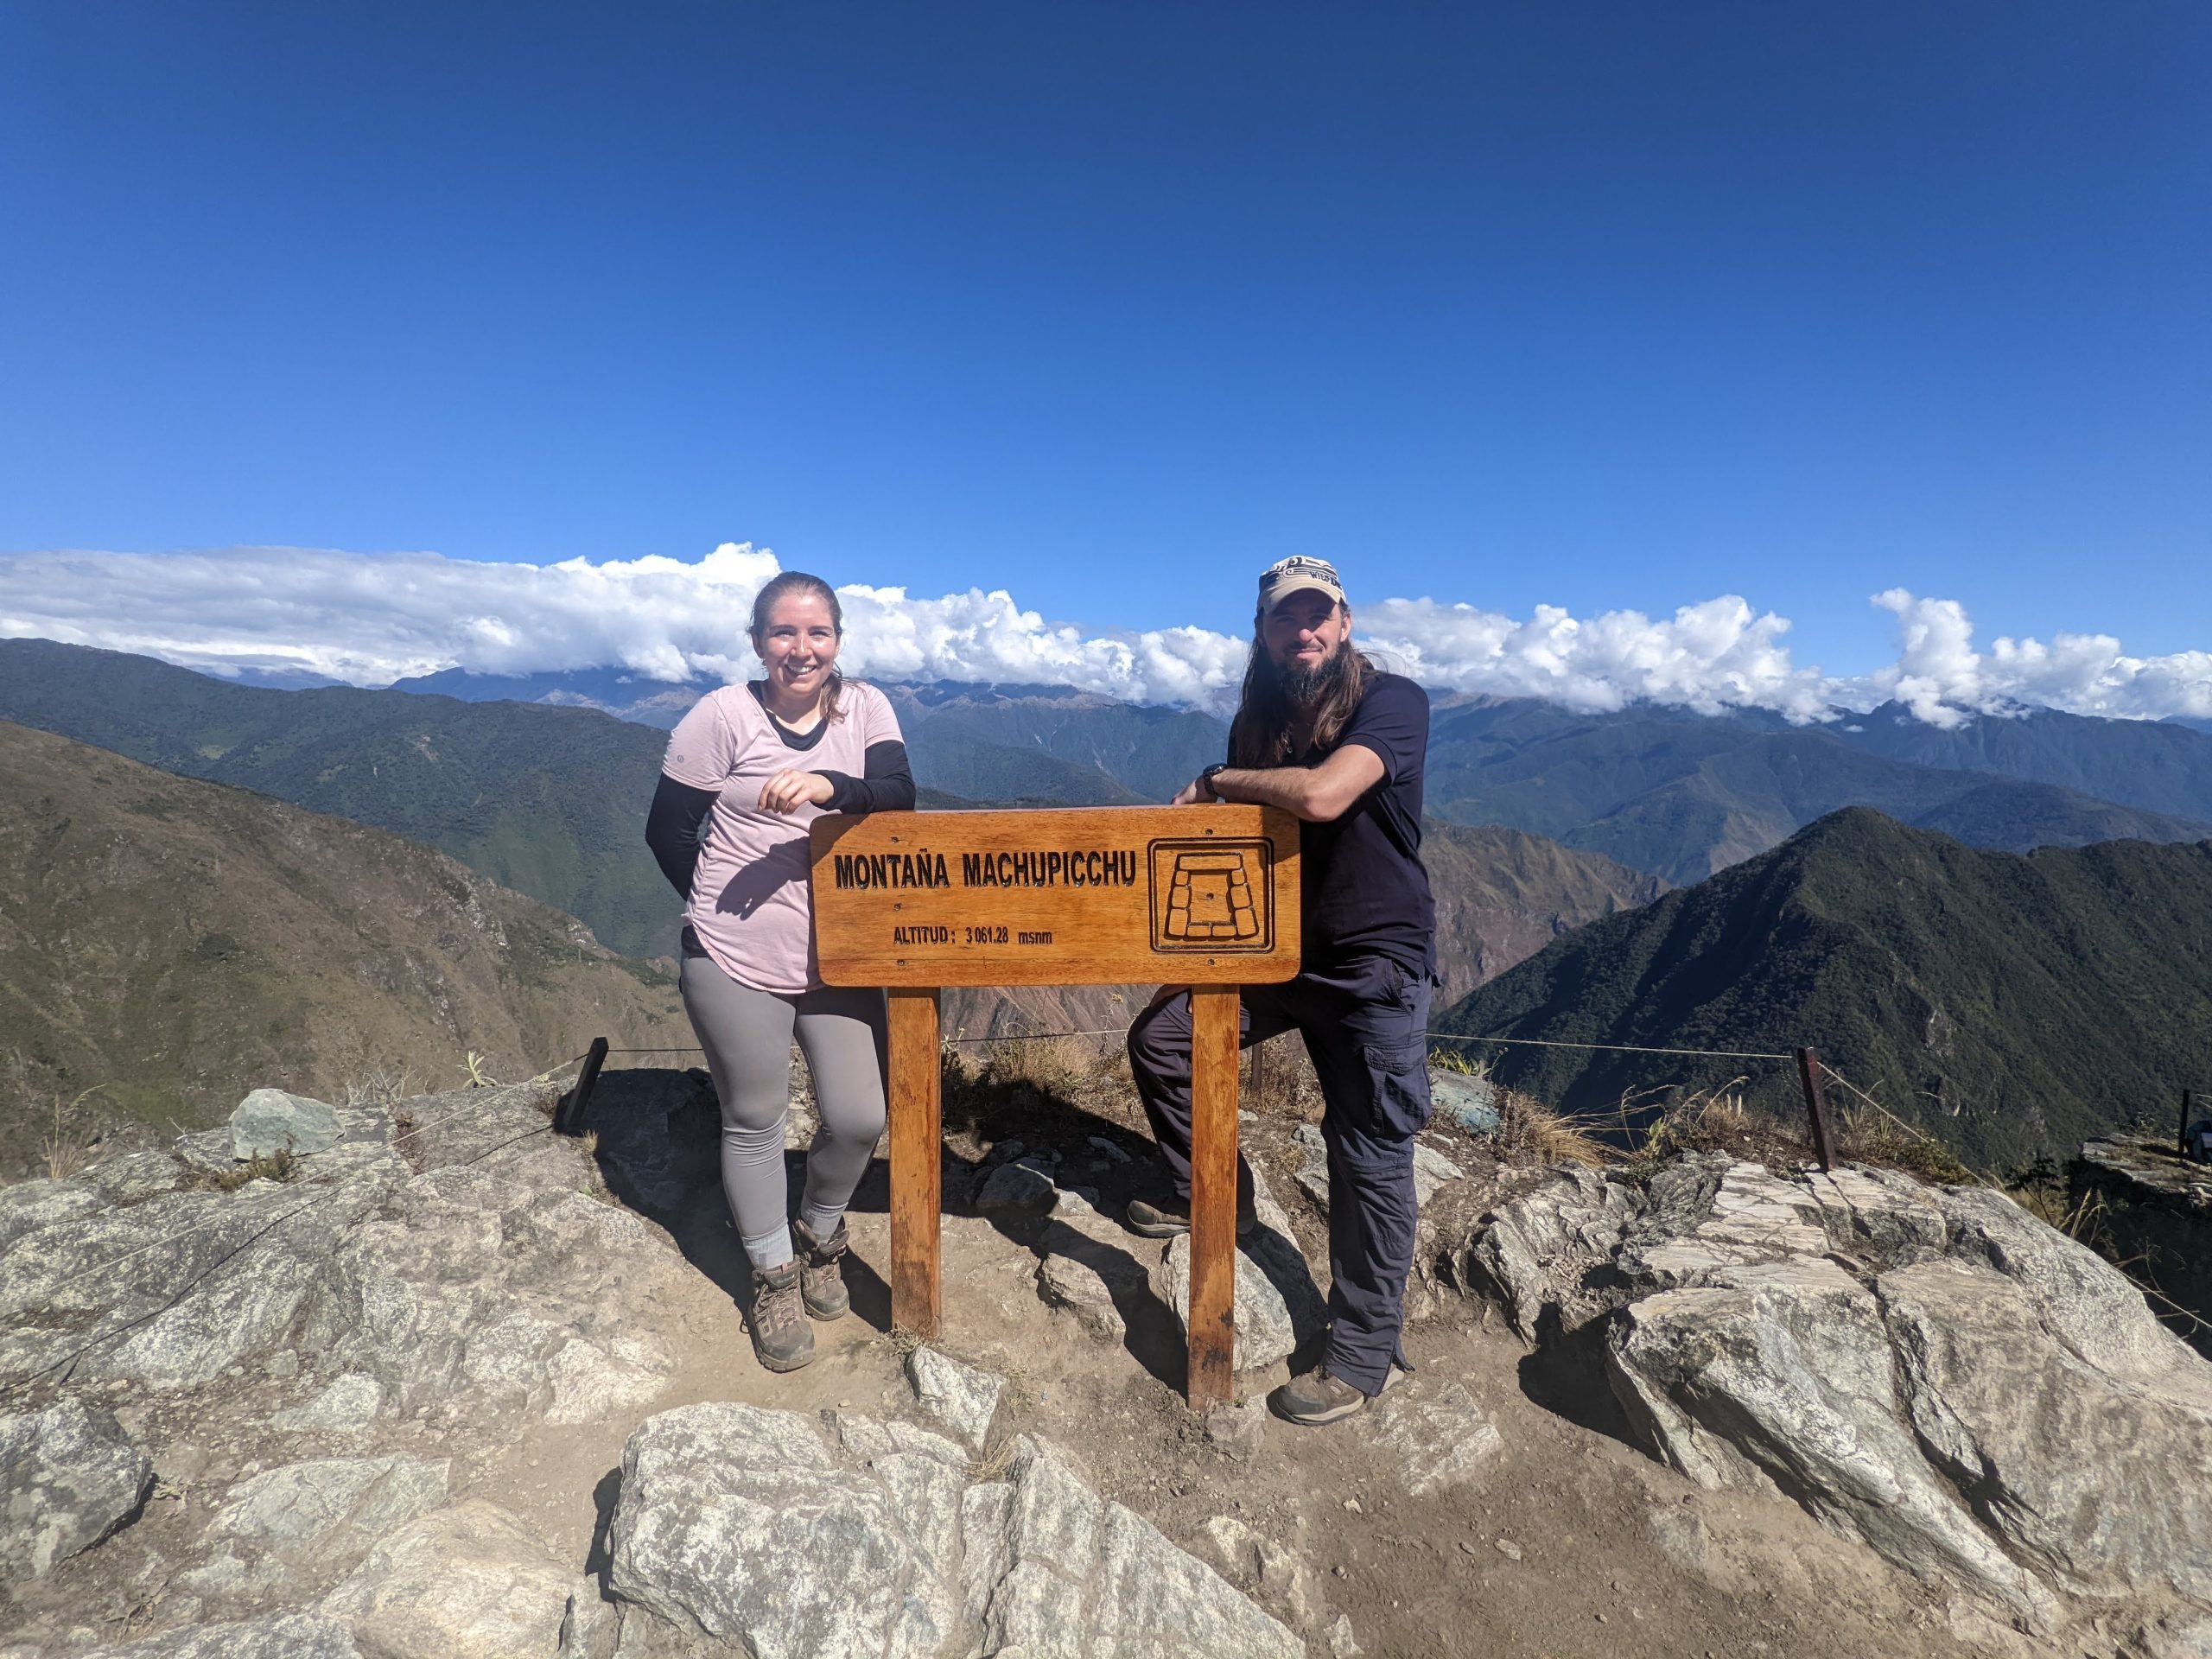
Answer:
M1274 807L876 812L814 821L825 984L891 995L891 1318L936 1336L938 991L1190 987L1190 1374L1230 1398L1237 1310L1237 987L1298 971L1298 825Z

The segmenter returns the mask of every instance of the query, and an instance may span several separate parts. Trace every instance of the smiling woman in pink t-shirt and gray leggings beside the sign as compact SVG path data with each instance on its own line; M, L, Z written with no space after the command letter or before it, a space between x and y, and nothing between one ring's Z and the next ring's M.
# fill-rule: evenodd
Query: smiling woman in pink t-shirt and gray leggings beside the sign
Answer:
M836 672L845 617L816 575L785 571L752 602L768 670L699 699L668 739L646 843L684 894L679 989L721 1097L721 1186L752 1261L748 1325L770 1371L814 1358L812 1318L847 1310L845 1206L883 1135L883 991L814 971L807 825L823 812L914 805L898 717ZM799 1217L785 1217L792 1035L821 1130ZM794 1245L796 1234L796 1245Z

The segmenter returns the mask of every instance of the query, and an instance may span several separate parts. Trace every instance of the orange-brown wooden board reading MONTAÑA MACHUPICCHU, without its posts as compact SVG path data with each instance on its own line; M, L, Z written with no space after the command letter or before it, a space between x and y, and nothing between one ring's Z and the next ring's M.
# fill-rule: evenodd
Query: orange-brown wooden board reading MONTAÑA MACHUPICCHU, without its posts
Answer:
M814 821L825 984L1267 984L1298 971L1298 823L1272 807Z

